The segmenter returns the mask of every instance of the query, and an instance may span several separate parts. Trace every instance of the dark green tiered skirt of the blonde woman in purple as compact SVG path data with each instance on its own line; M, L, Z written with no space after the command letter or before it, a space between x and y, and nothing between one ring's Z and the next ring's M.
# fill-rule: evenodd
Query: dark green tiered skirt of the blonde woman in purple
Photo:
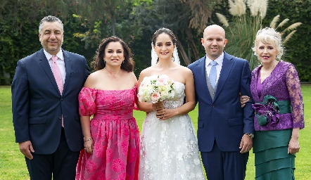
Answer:
M288 154L292 129L281 131L255 131L255 179L293 180L295 154Z

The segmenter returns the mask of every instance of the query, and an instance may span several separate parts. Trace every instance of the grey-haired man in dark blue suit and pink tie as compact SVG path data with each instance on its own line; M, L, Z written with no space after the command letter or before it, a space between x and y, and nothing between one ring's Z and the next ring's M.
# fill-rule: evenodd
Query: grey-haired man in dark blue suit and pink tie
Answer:
M18 60L11 86L15 141L34 180L52 179L52 174L54 180L75 179L83 148L77 96L89 68L83 56L61 49L63 36L61 20L43 18L39 24L43 49ZM57 56L56 64L52 56Z

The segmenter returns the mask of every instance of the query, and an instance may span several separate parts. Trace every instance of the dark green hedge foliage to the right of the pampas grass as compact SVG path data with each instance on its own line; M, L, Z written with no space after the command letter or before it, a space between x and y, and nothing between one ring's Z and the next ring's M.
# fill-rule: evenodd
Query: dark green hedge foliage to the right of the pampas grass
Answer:
M286 42L283 58L296 66L301 82L311 82L311 0L270 0L269 4L267 19L279 14L281 19L288 18L289 24L303 23Z

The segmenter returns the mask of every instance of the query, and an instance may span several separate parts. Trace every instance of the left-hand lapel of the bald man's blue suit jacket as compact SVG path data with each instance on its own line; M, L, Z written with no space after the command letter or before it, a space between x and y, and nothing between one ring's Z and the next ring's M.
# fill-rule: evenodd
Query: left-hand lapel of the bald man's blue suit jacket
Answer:
M196 70L198 73L198 79L199 79L199 86L201 86L201 89L203 89L203 94L206 94L206 96L208 96L209 100L212 101L212 97L210 96L210 91L208 91L208 84L206 84L206 81L209 79L206 79L206 71L205 71L205 59L206 59L206 55L201 58L200 60L198 60L196 62Z

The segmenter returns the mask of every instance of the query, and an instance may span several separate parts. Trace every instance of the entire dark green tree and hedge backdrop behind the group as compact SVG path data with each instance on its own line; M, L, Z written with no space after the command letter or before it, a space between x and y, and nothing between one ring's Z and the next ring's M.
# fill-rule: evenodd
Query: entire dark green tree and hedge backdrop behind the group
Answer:
M0 84L11 84L16 61L42 48L38 25L46 15L63 20L63 49L80 53L88 61L101 39L113 34L122 38L134 52L134 72L139 75L150 66L155 30L167 27L174 32L179 40L179 58L187 65L205 53L201 31L207 25L220 24L215 13L231 17L228 8L227 0L0 0ZM311 0L269 0L267 12L262 20L265 26L276 15L280 15L280 20L288 18L284 26L278 27L279 31L293 23L303 23L286 42L283 58L296 65L301 81L311 82ZM225 51L229 44L241 49L246 42L230 40Z

